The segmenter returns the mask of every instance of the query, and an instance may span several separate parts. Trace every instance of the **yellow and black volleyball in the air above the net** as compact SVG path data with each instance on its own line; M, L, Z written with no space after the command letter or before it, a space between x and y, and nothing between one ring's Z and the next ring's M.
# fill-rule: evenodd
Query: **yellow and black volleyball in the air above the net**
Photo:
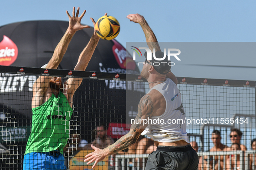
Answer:
M95 25L96 34L104 40L112 40L117 37L120 25L113 16L102 16Z

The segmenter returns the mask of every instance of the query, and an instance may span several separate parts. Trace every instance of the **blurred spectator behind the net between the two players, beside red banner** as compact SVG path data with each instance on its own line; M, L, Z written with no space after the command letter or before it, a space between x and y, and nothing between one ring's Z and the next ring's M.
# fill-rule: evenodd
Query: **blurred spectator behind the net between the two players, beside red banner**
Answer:
M96 135L94 141L85 146L85 148L91 148L92 144L97 148L103 149L112 145L113 143L115 143L114 140L111 137L107 136L107 127L104 126L103 123L100 123L96 127Z

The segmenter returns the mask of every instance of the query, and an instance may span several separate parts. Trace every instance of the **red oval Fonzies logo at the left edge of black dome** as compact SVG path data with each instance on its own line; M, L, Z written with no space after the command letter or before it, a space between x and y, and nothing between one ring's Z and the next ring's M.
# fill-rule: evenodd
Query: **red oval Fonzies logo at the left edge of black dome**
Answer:
M8 37L3 35L3 41L0 42L0 65L10 66L18 56L16 44Z

